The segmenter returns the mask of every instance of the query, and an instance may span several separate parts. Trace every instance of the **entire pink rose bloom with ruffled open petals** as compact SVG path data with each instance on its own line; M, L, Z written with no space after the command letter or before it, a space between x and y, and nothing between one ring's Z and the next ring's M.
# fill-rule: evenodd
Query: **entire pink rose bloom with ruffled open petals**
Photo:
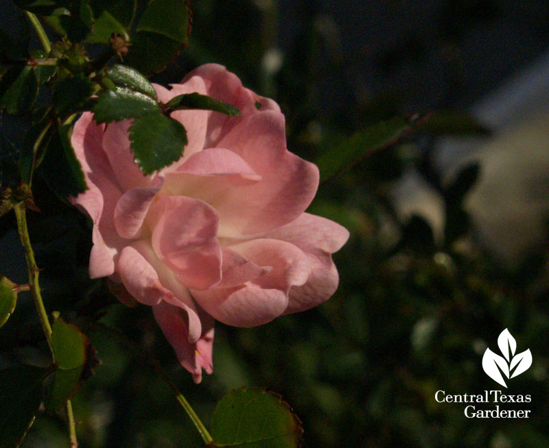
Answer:
M72 201L93 220L91 277L110 277L123 303L152 306L178 360L200 382L202 369L213 368L214 319L253 327L327 300L338 286L331 253L349 232L305 213L318 169L286 149L277 103L215 64L171 90L154 88L163 103L198 92L241 113L172 112L189 144L153 175L134 161L130 121L97 125L82 114L72 145L89 189Z

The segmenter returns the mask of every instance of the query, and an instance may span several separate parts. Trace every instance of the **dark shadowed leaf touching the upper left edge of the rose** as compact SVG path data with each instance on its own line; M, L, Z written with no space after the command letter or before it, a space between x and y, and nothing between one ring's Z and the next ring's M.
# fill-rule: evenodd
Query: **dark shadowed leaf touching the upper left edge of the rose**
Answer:
M86 191L86 179L71 145L72 126L65 125L49 140L42 173L49 188L60 197L78 196Z

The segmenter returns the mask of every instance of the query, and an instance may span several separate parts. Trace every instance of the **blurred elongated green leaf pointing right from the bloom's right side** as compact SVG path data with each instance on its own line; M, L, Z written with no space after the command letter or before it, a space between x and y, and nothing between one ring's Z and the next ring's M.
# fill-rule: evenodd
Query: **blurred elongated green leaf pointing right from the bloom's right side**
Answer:
M360 158L373 153L395 142L404 132L410 129L406 119L395 117L369 125L361 131L345 138L336 147L320 155L316 164L320 169L320 181L325 181Z

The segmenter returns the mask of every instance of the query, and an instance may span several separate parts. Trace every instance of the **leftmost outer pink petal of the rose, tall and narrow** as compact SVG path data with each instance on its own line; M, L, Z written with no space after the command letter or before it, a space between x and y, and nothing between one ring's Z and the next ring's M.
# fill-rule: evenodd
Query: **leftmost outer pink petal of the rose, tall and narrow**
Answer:
M88 190L71 198L71 202L83 208L93 221L93 247L90 255L90 277L106 277L115 269L114 258L122 247L113 222L113 210L120 187L102 149L103 126L92 121L93 116L84 112L75 123L71 143L82 165Z

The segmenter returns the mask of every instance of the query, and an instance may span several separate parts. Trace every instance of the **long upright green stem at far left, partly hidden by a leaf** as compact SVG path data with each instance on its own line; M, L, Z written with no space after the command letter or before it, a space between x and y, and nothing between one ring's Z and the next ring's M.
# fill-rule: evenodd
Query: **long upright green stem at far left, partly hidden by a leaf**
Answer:
M51 351L51 358L55 362L55 353L53 340L51 338L51 325L49 325L49 319L47 317L44 301L42 300L42 294L40 293L40 284L38 284L38 274L40 269L36 266L36 260L34 259L34 251L30 244L29 229L27 227L27 210L25 203L20 202L14 206L15 216L17 219L17 231L19 232L19 239L25 250L25 259L27 260L27 269L29 272L29 286L32 293L32 299L38 311L38 318L42 324L44 334L46 336L47 344ZM25 288L26 289L26 288ZM69 427L69 447L78 448L78 442L76 441L76 431L74 423L73 408L71 400L67 400L65 403L65 414L67 416L67 425Z

